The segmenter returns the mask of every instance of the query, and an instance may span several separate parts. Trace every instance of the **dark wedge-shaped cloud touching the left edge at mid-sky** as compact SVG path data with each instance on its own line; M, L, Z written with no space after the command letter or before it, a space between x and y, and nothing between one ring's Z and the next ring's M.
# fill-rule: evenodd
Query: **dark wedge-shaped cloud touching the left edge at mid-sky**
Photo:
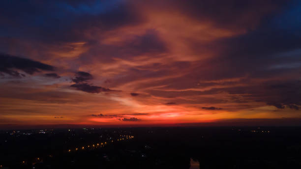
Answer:
M22 74L19 70L32 75L33 73L40 72L41 70L53 71L54 67L27 58L0 54L0 72L20 77Z

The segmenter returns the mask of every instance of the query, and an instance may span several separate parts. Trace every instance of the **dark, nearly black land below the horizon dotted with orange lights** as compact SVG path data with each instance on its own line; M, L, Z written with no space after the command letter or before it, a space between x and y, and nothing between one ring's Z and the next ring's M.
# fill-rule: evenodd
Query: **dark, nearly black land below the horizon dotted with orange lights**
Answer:
M0 169L301 169L301 128L10 130L0 152Z

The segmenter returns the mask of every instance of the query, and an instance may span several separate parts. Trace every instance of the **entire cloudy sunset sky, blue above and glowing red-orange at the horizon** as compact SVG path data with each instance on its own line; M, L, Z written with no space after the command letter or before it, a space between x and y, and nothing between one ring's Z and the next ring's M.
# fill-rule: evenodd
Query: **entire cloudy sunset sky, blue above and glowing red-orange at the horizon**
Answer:
M300 18L299 0L1 0L0 126L296 124Z

